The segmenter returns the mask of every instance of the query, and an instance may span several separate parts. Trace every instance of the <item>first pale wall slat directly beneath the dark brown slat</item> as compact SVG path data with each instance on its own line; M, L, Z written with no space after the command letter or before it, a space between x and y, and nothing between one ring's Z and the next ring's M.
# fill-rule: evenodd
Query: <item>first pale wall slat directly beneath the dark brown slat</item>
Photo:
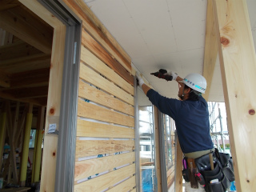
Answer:
M123 90L126 90L129 94L134 95L134 86L131 86L130 83L126 82L122 77L120 77L114 70L106 66L99 58L87 50L84 46L81 47L81 60L86 62L87 65L93 67L94 70L97 70L98 73L104 74L104 76L110 79L112 82L122 87Z

